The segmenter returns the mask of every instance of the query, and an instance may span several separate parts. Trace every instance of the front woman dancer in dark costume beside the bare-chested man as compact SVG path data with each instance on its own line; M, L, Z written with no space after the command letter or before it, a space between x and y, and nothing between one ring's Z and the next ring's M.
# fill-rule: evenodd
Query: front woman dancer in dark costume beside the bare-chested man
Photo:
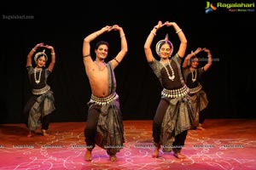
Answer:
M156 31L163 26L172 26L180 40L177 53L172 56L173 46L166 39L160 40L155 46L156 54L160 60L154 58L151 44ZM150 31L144 44L144 52L149 66L159 78L163 87L160 103L153 121L154 153L153 157L159 156L160 146L164 152L173 150L174 156L183 159L181 154L188 130L194 122L194 112L189 97L189 88L183 81L181 63L187 48L187 39L182 29L175 22L166 21L164 24L159 21L153 30Z

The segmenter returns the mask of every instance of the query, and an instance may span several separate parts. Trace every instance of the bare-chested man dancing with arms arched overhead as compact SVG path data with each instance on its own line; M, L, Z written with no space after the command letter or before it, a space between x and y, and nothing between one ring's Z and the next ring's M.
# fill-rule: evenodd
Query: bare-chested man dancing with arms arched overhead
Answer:
M109 45L106 41L99 41L94 50L96 59L93 60L90 55L90 42L109 31L119 31L121 42L119 53L105 63ZM116 153L123 148L125 143L119 95L116 93L113 70L120 64L127 51L125 33L123 28L118 25L104 26L101 30L92 32L84 38L84 67L91 88L89 110L84 128L87 145L85 161L91 161L91 152L95 144L107 150L110 161L117 161Z

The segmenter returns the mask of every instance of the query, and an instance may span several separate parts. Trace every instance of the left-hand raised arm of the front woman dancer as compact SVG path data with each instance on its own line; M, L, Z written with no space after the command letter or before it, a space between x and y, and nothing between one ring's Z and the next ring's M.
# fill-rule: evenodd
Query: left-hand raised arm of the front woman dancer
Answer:
M162 27L162 26L163 26L162 21L158 21L158 24L156 26L154 26L152 31L149 32L147 40L144 43L144 53L146 55L148 62L153 61L153 59L154 59L154 56L153 56L152 50L151 50L151 44L153 42L154 37L156 36L156 31L158 31L158 29L160 29L160 27Z

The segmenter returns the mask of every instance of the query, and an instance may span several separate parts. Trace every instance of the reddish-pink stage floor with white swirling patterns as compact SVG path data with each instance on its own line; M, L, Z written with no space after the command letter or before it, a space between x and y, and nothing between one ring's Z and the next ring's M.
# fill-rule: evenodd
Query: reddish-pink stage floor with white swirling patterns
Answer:
M0 170L256 169L256 120L207 119L206 130L189 130L183 160L162 151L159 158L151 157L152 121L124 121L125 147L116 162L97 146L92 161L84 161L85 123L52 122L49 136L32 138L26 137L24 124L1 124Z

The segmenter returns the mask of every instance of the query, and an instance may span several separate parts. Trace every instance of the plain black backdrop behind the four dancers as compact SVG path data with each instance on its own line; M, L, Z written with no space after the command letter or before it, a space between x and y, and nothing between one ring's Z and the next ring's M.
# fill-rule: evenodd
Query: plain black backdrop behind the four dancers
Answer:
M218 8L206 14L206 1L188 2L5 3L1 6L0 122L23 122L22 110L31 90L26 55L38 42L54 46L56 53L49 77L57 108L52 122L86 121L90 86L84 71L83 40L114 24L123 27L129 48L115 70L123 119L152 120L162 88L148 66L143 44L158 20L175 21L183 29L189 42L187 54L198 47L211 49L215 60L202 82L210 101L207 118L255 118L255 12ZM33 19L4 18L13 15ZM175 54L179 41L172 27L157 31L152 48L166 33ZM97 40L109 42L108 59L119 52L119 32L102 34L92 48Z

